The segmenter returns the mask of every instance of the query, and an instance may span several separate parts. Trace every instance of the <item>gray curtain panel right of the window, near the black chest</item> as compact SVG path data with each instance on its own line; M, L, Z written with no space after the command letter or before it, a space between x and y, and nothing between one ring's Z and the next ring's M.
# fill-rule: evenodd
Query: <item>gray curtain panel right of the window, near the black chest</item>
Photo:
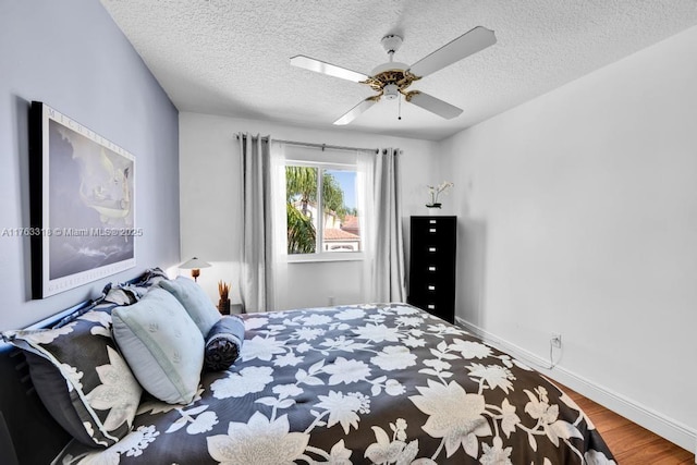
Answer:
M406 302L400 149L380 149L375 157L374 298L376 302Z

